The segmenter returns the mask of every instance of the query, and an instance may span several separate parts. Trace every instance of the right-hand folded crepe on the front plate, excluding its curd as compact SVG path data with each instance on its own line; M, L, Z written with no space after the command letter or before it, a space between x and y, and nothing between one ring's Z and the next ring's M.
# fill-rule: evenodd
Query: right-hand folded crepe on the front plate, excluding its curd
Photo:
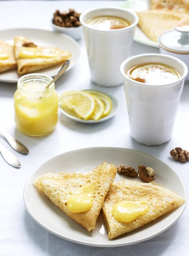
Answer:
M113 206L121 201L147 202L149 211L129 223L118 222L112 216ZM155 220L179 207L185 199L156 182L142 183L129 180L114 182L102 207L109 238L116 238Z

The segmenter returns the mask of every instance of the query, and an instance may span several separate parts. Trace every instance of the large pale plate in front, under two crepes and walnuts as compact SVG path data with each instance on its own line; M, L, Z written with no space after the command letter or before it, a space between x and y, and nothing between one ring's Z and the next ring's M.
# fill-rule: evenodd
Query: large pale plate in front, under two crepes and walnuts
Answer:
M40 165L28 178L24 187L24 202L31 217L44 229L66 240L97 247L117 247L145 241L162 233L181 216L186 202L179 208L166 213L164 216L148 223L116 239L108 239L105 223L100 214L96 228L88 232L63 211L55 206L43 193L37 191L33 180L47 171L59 172L88 172L94 167L107 161L108 163L128 165L138 168L143 164L154 168L156 182L174 190L186 198L185 187L180 177L164 162L143 152L127 148L97 147L73 150L49 159ZM138 169L137 169L138 170ZM124 176L116 174L115 180L123 180ZM130 178L139 180L138 178Z

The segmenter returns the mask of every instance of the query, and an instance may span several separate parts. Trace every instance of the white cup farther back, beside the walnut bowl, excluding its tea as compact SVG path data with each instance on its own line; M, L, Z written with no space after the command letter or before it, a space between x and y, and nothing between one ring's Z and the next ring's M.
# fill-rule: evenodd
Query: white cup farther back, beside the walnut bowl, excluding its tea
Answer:
M88 20L99 16L116 16L130 23L122 29L99 30L90 27ZM97 85L111 87L123 83L121 63L130 56L134 28L138 16L119 7L90 9L80 16L87 48L91 80Z

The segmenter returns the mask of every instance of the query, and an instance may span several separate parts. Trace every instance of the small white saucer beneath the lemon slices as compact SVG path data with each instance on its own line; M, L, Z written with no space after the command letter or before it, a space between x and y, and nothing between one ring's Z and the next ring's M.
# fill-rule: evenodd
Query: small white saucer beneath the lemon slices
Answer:
M85 91L87 91L87 90L85 90ZM97 124L97 123L106 121L106 120L110 119L111 117L113 117L116 114L116 112L117 112L117 110L119 108L119 102L118 102L118 100L115 97L113 97L112 95L108 94L107 92L102 92L102 93L106 94L112 100L112 109L111 109L110 113L108 114L108 116L103 117L103 118L99 119L98 121L84 120L84 119L78 118L77 114L75 112L71 111L71 110L68 110L68 109L65 110L65 109L61 108L60 105L59 105L59 108L61 109L62 113L66 117L68 117L68 118L70 118L70 119L72 119L74 121L80 122L80 123Z

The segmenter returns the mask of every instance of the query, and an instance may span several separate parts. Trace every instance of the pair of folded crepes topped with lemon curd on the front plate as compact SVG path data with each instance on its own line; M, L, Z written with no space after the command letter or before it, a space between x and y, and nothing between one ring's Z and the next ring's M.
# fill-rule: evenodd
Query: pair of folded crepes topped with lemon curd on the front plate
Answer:
M34 184L88 231L95 228L102 209L109 238L142 227L185 202L174 191L156 182L122 180L113 183L116 171L116 166L105 162L89 173L48 172Z

